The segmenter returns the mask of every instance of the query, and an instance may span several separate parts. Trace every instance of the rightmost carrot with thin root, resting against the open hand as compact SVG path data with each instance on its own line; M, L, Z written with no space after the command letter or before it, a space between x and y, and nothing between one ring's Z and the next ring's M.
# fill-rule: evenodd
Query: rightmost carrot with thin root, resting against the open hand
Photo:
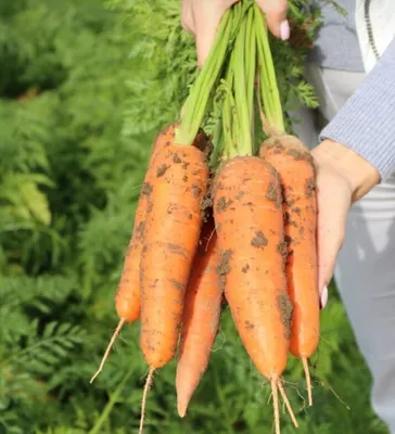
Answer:
M286 135L273 136L265 141L259 155L277 169L283 191L288 244L285 273L294 306L290 352L303 361L311 405L307 359L319 342L317 204L313 157L297 138Z

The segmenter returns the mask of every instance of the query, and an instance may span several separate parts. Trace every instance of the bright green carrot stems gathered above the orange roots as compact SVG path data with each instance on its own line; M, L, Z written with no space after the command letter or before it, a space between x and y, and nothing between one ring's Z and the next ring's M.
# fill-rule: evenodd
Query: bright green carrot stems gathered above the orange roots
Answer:
M208 58L181 110L175 142L192 144L199 129L207 122L208 112L217 104L220 108L215 120L212 166L219 159L254 155L256 78L268 127L264 128L265 132L284 132L266 21L255 1L242 0L222 16Z

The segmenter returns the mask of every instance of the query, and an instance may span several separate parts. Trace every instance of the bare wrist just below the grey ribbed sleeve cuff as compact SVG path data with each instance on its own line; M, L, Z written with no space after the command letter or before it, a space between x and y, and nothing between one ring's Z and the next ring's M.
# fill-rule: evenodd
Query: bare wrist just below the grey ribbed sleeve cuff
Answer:
M351 188L353 202L380 182L377 168L341 143L327 139L311 153L318 166L328 166L343 177Z

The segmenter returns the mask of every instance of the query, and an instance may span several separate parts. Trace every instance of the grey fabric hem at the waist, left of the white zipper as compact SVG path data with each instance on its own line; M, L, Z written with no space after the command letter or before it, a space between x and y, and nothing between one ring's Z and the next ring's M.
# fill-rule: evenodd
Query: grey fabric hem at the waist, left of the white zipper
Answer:
M336 2L347 12L346 16L330 4L317 4L322 11L323 25L308 61L327 68L361 73L364 62L355 26L355 0Z

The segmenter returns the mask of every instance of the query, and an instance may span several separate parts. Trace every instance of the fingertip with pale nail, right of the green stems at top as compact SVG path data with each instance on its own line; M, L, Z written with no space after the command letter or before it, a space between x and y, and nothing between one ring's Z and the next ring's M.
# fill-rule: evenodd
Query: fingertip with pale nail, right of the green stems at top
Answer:
M266 15L270 33L282 40L290 38L290 23L286 20L286 0L256 0Z

